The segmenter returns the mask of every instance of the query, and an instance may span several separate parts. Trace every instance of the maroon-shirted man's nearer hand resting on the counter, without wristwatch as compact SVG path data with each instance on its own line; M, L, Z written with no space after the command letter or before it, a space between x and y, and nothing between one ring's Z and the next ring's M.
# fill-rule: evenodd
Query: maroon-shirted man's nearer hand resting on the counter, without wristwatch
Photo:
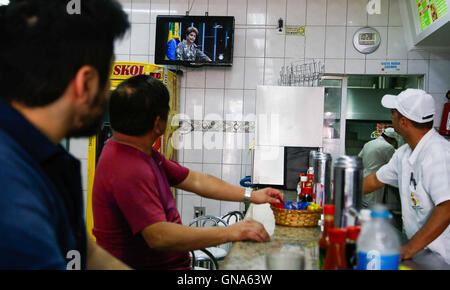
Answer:
M253 240L256 242L268 242L270 236L264 226L255 220L245 219L227 227L231 241Z

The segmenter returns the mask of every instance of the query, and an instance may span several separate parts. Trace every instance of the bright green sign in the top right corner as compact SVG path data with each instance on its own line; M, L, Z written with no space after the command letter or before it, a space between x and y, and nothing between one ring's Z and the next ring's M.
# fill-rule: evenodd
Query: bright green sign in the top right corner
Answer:
M448 12L447 0L416 0L420 31Z

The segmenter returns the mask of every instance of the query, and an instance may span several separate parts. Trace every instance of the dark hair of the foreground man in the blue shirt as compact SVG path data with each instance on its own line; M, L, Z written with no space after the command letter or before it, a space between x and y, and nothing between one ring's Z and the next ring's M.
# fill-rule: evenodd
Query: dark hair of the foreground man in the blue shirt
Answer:
M29 107L54 102L83 65L94 67L105 88L114 40L130 27L116 0L11 0L0 7L0 98Z

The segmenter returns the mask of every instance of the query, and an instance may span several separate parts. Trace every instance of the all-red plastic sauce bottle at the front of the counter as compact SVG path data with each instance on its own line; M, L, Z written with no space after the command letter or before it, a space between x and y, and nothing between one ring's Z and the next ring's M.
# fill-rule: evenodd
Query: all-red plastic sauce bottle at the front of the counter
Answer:
M345 229L329 229L330 245L328 246L327 256L323 264L324 270L345 270L347 261L345 257L345 240L347 231Z

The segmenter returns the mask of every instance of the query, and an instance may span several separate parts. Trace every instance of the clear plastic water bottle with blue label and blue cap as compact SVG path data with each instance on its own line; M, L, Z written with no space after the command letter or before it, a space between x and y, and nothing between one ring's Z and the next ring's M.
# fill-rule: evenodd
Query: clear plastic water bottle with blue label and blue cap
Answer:
M362 227L356 245L358 270L398 270L400 239L389 218L385 206L373 206L371 219Z

